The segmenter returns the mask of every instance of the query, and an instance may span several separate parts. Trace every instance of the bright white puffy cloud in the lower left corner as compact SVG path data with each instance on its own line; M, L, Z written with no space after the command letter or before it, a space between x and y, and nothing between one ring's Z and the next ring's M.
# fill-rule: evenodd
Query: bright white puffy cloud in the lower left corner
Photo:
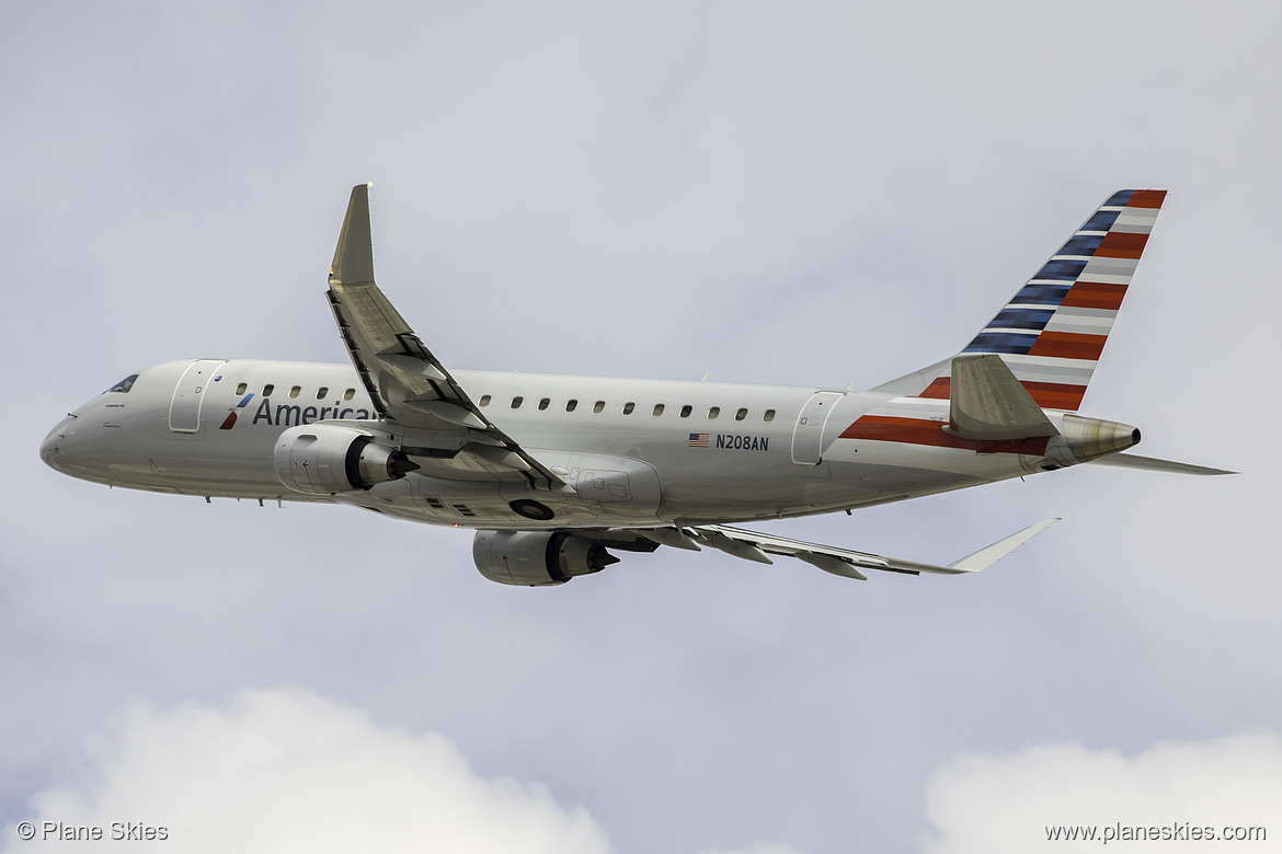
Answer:
M122 823L164 828L165 850L185 853L614 851L547 786L482 777L438 734L381 727L303 689L246 690L226 709L136 705L73 777L32 799L37 839L17 841L10 823L4 850L56 850L56 830L41 836L60 822L108 837ZM754 842L741 854L796 851Z

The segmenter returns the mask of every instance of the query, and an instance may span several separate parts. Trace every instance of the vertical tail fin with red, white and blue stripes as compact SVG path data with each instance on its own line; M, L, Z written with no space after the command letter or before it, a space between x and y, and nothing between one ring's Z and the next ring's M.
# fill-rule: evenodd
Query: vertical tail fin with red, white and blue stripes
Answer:
M1076 412L1165 196L1113 193L962 352L1000 353L1038 406ZM919 397L949 391L944 362Z

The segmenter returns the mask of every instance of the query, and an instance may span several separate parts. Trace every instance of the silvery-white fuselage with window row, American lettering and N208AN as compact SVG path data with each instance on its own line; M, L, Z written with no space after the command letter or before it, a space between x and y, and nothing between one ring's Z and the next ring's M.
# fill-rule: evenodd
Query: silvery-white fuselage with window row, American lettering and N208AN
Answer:
M873 392L703 382L455 371L499 429L569 485L460 478L419 470L368 490L309 495L273 466L281 434L319 421L386 430L349 365L182 360L141 371L64 419L41 447L67 474L113 487L205 497L337 501L400 519L463 528L658 526L781 519L854 508L1004 480L1038 470L1040 455L979 453L895 438L842 438L874 407L912 423L949 420L947 399ZM706 435L705 435L706 434ZM424 443L426 444L426 443ZM449 476L445 476L449 474ZM554 507L547 522L510 502Z

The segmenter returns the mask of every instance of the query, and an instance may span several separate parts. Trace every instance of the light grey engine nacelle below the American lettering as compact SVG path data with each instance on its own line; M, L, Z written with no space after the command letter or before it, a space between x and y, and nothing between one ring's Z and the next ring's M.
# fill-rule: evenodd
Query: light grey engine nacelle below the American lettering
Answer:
M329 424L290 428L276 440L273 461L281 483L309 495L369 489L418 467L360 430Z

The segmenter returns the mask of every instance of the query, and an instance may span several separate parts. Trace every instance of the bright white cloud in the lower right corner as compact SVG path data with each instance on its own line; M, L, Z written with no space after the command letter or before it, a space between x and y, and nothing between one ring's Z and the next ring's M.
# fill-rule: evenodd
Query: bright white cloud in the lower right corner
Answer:
M1282 850L1282 736L1273 732L1208 741L1159 743L1127 757L1079 744L1044 744L1004 754L969 754L940 769L927 793L937 837L929 854L1024 853L1046 842L1047 826L1264 827ZM1272 826L1270 826L1272 825ZM1190 830L1191 830L1190 827ZM1122 836L1126 839L1126 836ZM1100 841L1058 841L1056 850ZM1168 840L1163 850L1209 850L1205 841ZM1124 849L1129 850L1129 849Z

